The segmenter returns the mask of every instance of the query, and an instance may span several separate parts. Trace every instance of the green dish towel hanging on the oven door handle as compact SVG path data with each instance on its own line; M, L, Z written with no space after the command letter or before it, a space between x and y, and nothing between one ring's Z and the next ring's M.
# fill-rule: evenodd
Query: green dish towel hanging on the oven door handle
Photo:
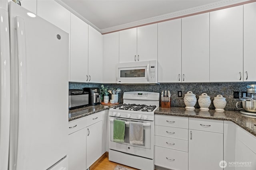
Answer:
M114 142L124 143L125 121L114 119Z

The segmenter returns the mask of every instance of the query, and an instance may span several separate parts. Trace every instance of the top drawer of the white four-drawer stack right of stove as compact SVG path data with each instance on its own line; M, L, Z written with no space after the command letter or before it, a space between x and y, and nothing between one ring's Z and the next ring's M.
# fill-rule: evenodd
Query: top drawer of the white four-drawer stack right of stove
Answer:
M155 115L155 125L188 129L188 117Z

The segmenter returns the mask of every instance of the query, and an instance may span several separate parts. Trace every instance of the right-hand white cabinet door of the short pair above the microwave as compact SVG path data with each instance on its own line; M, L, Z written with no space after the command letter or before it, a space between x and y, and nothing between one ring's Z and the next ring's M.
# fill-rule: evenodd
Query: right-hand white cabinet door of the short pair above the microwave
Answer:
M137 61L157 60L157 23L137 28Z

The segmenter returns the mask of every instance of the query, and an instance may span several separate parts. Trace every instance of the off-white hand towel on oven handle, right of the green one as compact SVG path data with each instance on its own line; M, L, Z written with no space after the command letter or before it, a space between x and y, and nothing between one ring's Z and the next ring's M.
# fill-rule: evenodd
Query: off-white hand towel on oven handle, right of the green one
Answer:
M129 122L130 144L143 145L143 123Z

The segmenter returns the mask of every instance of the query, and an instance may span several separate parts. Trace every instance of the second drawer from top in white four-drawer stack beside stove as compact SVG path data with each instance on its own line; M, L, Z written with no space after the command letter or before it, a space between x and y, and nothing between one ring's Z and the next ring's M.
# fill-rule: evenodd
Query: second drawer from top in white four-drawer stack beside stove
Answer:
M188 129L155 125L155 135L188 140Z

